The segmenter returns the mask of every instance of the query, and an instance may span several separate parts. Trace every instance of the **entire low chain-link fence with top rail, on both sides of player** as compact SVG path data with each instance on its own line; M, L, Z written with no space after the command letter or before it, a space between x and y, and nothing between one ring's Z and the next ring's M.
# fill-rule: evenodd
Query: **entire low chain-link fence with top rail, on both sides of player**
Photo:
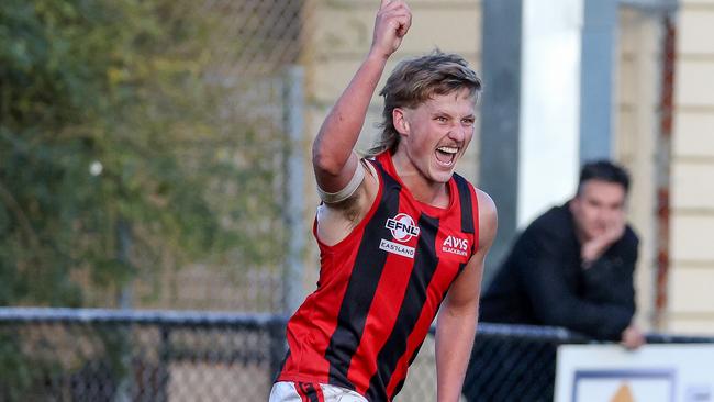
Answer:
M0 309L1 401L266 401L286 317L205 312ZM468 401L549 401L561 328L481 324ZM657 340L650 338L650 340ZM714 339L660 338L660 342ZM433 337L398 401L436 399Z

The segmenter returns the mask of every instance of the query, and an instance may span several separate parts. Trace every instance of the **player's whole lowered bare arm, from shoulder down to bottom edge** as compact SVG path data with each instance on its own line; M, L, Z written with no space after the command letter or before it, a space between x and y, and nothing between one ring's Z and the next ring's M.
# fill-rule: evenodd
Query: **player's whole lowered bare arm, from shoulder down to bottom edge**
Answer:
M451 284L436 322L436 393L438 402L459 400L476 336L486 255L498 226L493 200L476 190L479 201L479 247Z

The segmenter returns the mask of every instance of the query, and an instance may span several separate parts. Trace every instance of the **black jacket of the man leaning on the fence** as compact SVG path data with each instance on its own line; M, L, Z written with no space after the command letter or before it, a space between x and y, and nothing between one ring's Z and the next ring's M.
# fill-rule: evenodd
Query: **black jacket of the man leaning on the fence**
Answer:
M635 313L637 235L627 226L589 268L568 204L550 209L516 239L484 292L480 321L562 326L618 340Z

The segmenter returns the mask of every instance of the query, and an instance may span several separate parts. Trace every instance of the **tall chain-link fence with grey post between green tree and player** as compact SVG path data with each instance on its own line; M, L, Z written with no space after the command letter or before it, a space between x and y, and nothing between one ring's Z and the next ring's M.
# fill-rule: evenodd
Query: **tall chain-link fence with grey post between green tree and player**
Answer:
M140 275L133 283L133 305L283 311L288 292L283 267L304 254L300 244L291 243L304 235L293 232L304 226L309 233L291 191L301 186L293 165L295 155L303 153L295 136L303 131L301 71L313 8L308 0L205 0L172 5L183 24L201 21L207 26L200 57L208 62L201 64L205 66L201 76L217 98L216 119L207 124L221 135L201 141L216 158L239 169L231 182L216 185L212 197L223 224L242 239L242 246L221 256L217 264L198 261L178 270L164 269L159 280Z

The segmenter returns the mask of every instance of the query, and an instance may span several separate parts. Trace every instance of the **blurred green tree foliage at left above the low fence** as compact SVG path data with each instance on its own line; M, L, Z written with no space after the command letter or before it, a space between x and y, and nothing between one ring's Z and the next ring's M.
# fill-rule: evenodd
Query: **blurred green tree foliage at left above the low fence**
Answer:
M223 115L200 7L0 2L0 304L91 304L77 272L115 293L227 250L277 261L279 143Z

